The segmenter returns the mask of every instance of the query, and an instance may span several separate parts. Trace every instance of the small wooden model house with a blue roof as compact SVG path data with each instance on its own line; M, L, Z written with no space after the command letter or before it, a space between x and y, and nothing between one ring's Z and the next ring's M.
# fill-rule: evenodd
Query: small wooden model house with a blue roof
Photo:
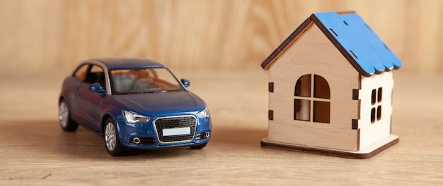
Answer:
M313 13L261 64L269 70L263 147L367 159L391 135L401 61L355 12Z

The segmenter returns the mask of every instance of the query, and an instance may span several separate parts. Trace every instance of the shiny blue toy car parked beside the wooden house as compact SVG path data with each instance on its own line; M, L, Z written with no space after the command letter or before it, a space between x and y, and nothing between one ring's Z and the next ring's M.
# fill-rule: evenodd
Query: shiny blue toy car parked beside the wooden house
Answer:
M211 135L205 101L189 92L156 61L97 58L84 61L67 77L59 97L59 124L79 125L102 135L112 156L127 147L201 149Z

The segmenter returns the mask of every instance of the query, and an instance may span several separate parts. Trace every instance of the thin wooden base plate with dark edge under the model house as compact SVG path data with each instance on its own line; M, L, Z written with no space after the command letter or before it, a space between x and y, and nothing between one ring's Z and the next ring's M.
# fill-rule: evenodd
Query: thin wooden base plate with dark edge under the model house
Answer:
M261 140L262 147L269 147L272 149L285 149L291 151L302 151L308 152L312 154L323 154L328 156L338 156L348 159L369 159L376 154L379 154L384 149L388 149L389 147L397 144L399 142L398 135L389 135L389 137L385 137L383 140L372 144L371 146L364 148L359 151L345 151L340 149L326 149L321 147L307 147L297 144L287 144L281 142L271 142L267 139L267 137Z

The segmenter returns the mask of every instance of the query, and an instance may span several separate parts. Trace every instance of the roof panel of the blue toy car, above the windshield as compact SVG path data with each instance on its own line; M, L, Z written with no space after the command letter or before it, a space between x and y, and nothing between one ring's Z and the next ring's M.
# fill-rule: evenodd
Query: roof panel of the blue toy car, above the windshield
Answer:
M163 64L146 58L92 58L88 61L103 63L108 70L127 68L163 68Z

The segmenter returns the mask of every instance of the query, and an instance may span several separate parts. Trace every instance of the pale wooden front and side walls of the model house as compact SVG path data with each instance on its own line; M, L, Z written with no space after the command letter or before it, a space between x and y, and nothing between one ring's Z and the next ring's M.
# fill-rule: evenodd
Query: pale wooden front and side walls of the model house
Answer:
M269 93L268 143L359 151L386 139L391 134L393 72L361 77L355 62L348 61L352 57L343 56L324 35L326 28L314 23L306 21L262 63L275 87ZM328 92L327 97L315 96L321 87L311 81L315 75L326 78L322 92ZM359 89L358 101L351 99L353 89ZM316 110L316 101L328 104L327 109ZM316 120L321 113L327 114L326 122ZM359 126L352 128L350 118Z

